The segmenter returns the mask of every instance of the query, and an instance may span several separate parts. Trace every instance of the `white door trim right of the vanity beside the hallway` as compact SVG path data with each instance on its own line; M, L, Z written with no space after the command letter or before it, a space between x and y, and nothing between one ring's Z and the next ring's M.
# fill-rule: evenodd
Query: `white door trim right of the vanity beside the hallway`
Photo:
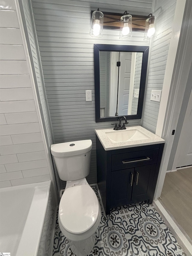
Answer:
M184 2L186 2L186 8L184 12ZM182 12L181 12L182 11ZM157 181L157 186L155 189L155 200L161 196L161 191L164 184L165 174L167 171L168 162L170 159L170 154L173 146L173 140L174 136L172 135L172 130L176 129L178 119L179 119L179 113L182 106L182 101L185 87L187 84L187 78L190 70L190 65L192 61L191 56L191 38L192 38L192 28L189 25L190 24L190 17L192 17L192 10L191 10L191 2L190 0L177 0L176 4L176 13L175 17L178 18L178 14L183 17L184 15L184 22L182 23L182 30L181 30L181 36L180 41L178 41L178 37L180 35L180 32L178 31L178 34L174 33L172 34L171 41L174 41L175 37L177 37L176 41L179 42L178 45L178 52L176 54L176 61L175 61L175 67L173 70L173 77L171 84L164 84L165 87L168 87L170 91L167 91L167 94L169 95L169 98L166 101L167 96L161 98L161 110L160 117L158 118L158 131L157 134L164 138L166 140L164 153L161 161L161 166L159 170L159 176ZM174 19L175 21L175 19ZM180 19L180 22L182 20ZM174 25L175 27L176 25ZM177 24L177 21L176 21ZM181 28L181 25L180 25ZM176 32L176 30L174 29ZM170 44L171 47L171 44ZM175 49L176 50L176 49ZM172 51L171 51L172 52ZM173 59L172 59L173 62ZM166 72L167 74L167 72ZM167 80L168 81L168 80ZM166 89L165 89L166 90ZM165 91L164 91L165 92ZM164 102L165 99L165 102ZM167 107L167 110L165 112L165 109L163 111L163 104ZM163 115L164 112L164 115ZM163 119L164 116L164 119ZM160 120L162 124L160 124Z

